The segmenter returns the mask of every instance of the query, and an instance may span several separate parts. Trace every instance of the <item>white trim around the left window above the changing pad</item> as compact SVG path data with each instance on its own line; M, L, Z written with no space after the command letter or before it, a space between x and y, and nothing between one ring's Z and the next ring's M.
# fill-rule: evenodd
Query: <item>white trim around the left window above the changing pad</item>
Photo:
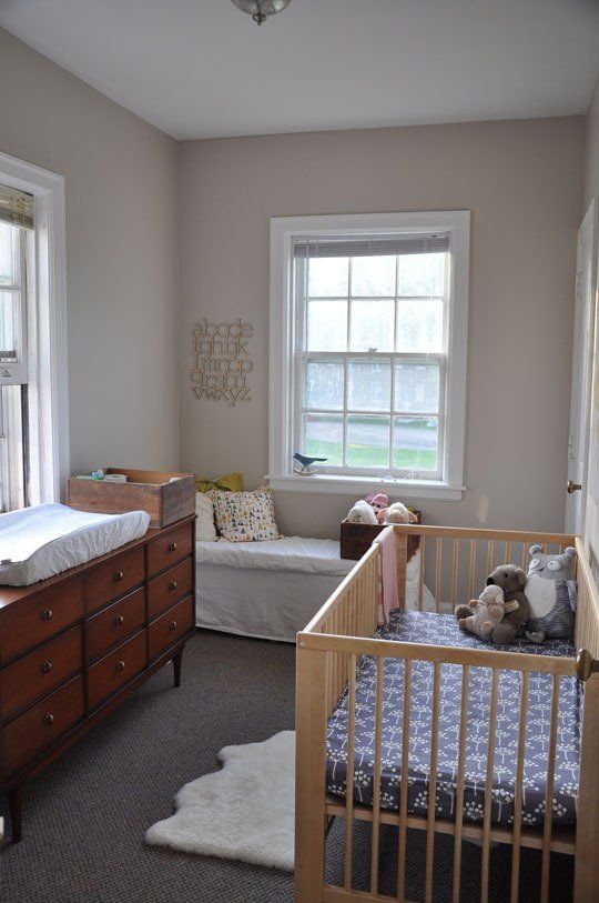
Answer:
M31 503L64 498L70 472L64 179L0 153L0 183L34 197L34 330L29 332L30 404L39 431L30 435Z

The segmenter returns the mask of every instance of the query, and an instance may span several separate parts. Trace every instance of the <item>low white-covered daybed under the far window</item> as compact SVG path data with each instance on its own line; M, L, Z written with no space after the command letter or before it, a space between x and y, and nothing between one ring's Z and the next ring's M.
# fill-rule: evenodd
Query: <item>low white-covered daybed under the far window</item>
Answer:
M334 540L196 543L196 624L295 642L296 634L354 566ZM406 608L418 600L419 555L408 562ZM423 605L433 596L426 588Z

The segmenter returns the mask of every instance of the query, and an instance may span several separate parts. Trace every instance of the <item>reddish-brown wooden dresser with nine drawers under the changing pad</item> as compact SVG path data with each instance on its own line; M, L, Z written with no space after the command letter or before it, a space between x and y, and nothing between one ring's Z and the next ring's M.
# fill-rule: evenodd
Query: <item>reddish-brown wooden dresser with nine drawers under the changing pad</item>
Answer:
M170 660L195 624L195 516L31 586L0 586L0 790L21 789Z

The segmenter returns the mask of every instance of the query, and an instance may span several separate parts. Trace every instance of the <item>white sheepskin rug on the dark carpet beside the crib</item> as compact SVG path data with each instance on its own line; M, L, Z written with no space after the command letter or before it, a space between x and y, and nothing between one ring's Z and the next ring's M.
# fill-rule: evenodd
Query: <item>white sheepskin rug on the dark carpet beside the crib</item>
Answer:
M148 843L293 871L295 733L225 746L223 767L185 784L176 812L146 832Z

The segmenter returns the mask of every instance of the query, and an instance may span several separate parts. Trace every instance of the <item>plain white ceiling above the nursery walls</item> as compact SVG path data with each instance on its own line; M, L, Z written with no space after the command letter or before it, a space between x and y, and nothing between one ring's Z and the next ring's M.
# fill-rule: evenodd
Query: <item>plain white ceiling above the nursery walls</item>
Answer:
M586 112L599 0L0 0L0 26L175 138Z

